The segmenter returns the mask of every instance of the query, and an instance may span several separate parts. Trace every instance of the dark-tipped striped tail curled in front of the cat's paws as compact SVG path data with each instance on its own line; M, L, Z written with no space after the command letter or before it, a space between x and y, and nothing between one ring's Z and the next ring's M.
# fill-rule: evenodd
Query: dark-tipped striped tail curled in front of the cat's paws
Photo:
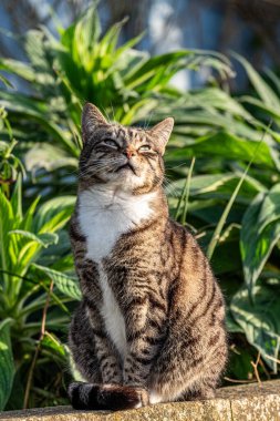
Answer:
M145 389L128 386L73 382L68 391L72 407L80 410L116 411L148 404Z

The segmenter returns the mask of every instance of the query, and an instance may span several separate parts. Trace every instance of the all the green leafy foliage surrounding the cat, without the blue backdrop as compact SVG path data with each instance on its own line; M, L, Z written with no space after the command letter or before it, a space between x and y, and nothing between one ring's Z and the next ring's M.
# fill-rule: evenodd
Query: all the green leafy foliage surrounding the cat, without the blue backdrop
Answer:
M1 78L0 178L8 183L1 183L0 192L0 347L9 360L11 340L14 361L6 368L0 360L0 370L7 369L2 407L10 394L6 408L22 405L30 372L30 407L63 402L59 372L68 359L65 329L81 292L64 230L74 198L61 196L75 192L85 101L123 124L146 126L175 117L165 156L169 208L208 250L225 291L232 348L229 376L252 379L258 352L260 376L279 374L280 80L271 71L258 74L235 55L251 92L234 96L225 57L190 50L151 57L135 49L139 38L120 47L124 23L102 34L93 6L70 28L60 28L58 39L46 29L29 31L29 62L0 60L0 69L29 89L20 93ZM179 70L201 66L214 71L206 86L182 92L172 85ZM19 156L28 168L24 208ZM60 384L56 393L53 384Z

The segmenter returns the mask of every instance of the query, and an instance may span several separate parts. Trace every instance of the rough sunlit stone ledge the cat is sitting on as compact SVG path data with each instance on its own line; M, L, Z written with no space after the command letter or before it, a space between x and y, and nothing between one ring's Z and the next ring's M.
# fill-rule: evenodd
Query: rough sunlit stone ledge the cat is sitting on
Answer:
M208 401L159 403L118 412L71 407L1 412L2 421L280 421L280 380L219 389Z

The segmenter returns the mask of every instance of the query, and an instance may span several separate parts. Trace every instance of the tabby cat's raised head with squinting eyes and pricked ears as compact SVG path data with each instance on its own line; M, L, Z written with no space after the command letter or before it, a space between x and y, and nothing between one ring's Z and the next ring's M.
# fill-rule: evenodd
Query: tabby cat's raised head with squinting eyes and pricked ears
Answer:
M80 183L106 184L134 194L154 191L163 183L163 155L173 125L169 117L151 130L126 127L108 123L95 105L85 104Z

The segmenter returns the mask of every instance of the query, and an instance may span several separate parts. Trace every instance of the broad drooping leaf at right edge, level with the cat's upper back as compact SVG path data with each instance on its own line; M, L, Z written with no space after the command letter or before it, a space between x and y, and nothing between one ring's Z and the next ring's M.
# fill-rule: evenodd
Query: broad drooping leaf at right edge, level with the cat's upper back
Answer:
M280 238L280 184L260 193L242 219L240 250L245 281L251 290Z

